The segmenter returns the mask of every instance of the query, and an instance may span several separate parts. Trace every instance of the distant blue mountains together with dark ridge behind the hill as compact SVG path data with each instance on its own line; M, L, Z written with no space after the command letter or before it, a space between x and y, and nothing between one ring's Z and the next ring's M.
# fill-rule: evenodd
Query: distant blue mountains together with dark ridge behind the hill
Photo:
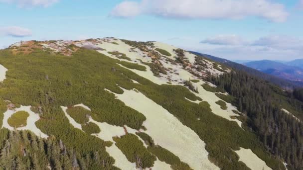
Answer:
M233 62L230 60L211 56L208 54L203 54L203 53L198 53L198 52L191 52L191 53L206 57L206 58L216 61L218 63L224 63L226 66L229 66L233 69L237 69L240 71L250 73L251 75L259 77L259 78L266 80L268 82L271 82L275 85L279 85L283 88L303 87L303 81L298 81L298 80L301 80L301 78L303 78L303 76L300 75L300 72L303 69L298 68L298 67L291 67L291 65L296 64L296 61L285 62L285 63L275 62L275 61L270 61L270 62L264 62L264 61L261 62L260 61L260 63L255 64L255 65L253 65L253 63L258 62L258 61L254 61L254 62L252 61L252 62L249 62L249 63L251 63L251 65L250 65L249 63L239 64L239 63L237 63L239 61ZM303 60L297 60L297 63L298 63L298 65L300 65L299 63L303 63ZM260 68L258 69L257 66ZM280 72L276 71L276 70L279 70L278 69L279 67L284 68L283 71L287 72L288 74L286 74L286 73L282 74L281 72L283 72L283 71L280 71ZM301 67L303 67L303 66L301 66ZM272 68L272 70L270 70L269 68ZM291 76L292 72L296 73L296 75L298 75L299 78L295 79L294 76L292 77ZM279 76L278 73L280 73L281 76ZM284 76L282 77L282 75L284 75ZM289 77L287 77L286 75L289 75Z

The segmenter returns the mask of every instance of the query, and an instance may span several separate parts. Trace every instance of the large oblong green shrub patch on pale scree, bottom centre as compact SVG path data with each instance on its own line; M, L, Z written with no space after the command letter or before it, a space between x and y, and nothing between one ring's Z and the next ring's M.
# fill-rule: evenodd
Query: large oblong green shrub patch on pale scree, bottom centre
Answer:
M136 163L137 168L145 169L153 167L155 156L144 147L136 135L127 134L121 138L115 137L117 147L123 152L131 163Z

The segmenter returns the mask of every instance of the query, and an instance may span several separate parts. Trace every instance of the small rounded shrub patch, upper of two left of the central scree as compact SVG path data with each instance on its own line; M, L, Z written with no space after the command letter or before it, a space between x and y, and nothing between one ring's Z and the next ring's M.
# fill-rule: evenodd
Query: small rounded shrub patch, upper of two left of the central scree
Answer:
M88 122L88 118L91 115L91 111L81 106L69 107L66 109L66 112L79 124Z

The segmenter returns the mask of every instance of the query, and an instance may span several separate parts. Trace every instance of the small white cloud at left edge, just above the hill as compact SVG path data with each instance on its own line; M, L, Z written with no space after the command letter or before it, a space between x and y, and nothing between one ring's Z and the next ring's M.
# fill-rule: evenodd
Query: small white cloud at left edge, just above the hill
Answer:
M31 36L31 30L18 26L0 27L0 35L12 37L28 37Z

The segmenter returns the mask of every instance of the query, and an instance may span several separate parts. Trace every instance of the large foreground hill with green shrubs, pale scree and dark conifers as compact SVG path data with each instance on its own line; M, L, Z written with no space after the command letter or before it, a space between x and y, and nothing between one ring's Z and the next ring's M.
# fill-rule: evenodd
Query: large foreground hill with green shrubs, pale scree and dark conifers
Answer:
M0 50L0 167L303 168L303 103L245 74L159 42L13 44Z

